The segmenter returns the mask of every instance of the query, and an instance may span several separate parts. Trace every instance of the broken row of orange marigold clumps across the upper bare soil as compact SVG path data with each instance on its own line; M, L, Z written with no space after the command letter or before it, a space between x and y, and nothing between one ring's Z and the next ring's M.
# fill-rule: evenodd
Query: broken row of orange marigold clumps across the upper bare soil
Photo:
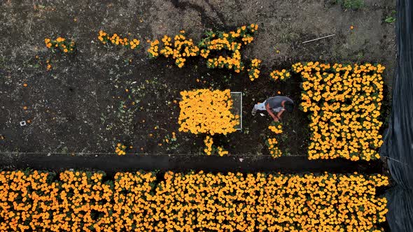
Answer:
M156 58L162 55L165 58L174 59L176 66L182 68L190 57L202 57L207 59L208 68L228 68L236 73L243 71L244 62L241 61L241 48L252 43L258 31L258 24L249 24L237 27L233 31L207 31L199 43L188 38L185 31L179 31L175 36L163 36L162 39L148 40L150 47L147 52L149 57ZM98 40L104 45L120 45L131 50L141 47L141 41L137 38L127 38L118 34L109 34L100 30ZM52 51L59 49L62 52L72 53L75 43L71 39L59 37L56 40L45 38L45 45ZM251 59L248 66L248 78L253 81L260 75L260 59ZM272 71L273 80L286 80L290 73Z

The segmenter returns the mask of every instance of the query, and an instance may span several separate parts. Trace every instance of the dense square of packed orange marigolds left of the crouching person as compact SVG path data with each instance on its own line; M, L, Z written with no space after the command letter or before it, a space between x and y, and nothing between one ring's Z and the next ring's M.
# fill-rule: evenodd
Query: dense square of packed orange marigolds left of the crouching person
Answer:
M239 124L239 116L233 115L230 89L224 91L209 89L195 89L181 92L182 101L179 102L179 131L191 133L235 132Z

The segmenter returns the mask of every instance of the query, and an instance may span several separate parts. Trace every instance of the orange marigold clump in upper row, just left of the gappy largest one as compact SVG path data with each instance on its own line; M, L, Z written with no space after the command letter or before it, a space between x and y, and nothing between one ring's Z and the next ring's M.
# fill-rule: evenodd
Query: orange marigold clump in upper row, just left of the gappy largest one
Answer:
M148 41L151 43L151 47L148 49L149 56L158 57L160 54L164 57L172 57L172 59L175 60L176 66L182 68L187 57L196 57L197 55L200 55L200 48L194 44L192 38L187 39L184 34L185 31L179 31L179 34L174 37L174 43L172 43L171 37L165 35L161 40L162 49L160 49L159 53L159 41Z

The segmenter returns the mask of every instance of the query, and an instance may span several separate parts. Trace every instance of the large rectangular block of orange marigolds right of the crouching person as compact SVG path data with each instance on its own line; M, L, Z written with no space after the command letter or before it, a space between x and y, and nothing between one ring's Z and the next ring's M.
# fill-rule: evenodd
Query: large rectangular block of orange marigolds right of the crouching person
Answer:
M309 62L293 71L303 79L301 107L311 117L309 159L379 159L384 66Z

